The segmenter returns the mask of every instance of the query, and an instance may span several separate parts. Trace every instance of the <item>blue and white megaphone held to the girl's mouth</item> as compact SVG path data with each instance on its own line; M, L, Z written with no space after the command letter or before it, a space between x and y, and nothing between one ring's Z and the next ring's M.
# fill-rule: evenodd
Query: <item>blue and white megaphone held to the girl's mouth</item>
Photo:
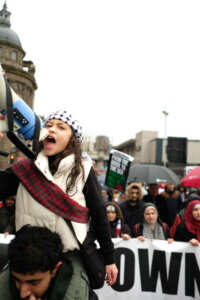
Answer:
M38 141L45 139L48 131L43 128L42 120L24 100L9 86L4 70L0 65L0 131L7 132L12 143L29 158L35 157ZM23 141L32 141L32 150Z

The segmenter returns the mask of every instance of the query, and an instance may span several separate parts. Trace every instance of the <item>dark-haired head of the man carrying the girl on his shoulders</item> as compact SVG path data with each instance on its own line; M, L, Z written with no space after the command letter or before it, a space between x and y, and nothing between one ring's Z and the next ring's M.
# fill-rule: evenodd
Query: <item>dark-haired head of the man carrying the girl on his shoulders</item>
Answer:
M61 266L62 241L44 227L23 226L8 247L9 269L21 299L40 299Z

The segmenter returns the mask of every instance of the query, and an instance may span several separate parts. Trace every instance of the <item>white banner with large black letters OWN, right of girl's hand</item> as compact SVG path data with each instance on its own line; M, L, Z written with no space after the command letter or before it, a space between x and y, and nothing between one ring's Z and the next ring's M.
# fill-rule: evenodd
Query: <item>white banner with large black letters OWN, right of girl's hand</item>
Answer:
M96 290L99 300L200 299L200 246L116 239L115 257L117 282Z

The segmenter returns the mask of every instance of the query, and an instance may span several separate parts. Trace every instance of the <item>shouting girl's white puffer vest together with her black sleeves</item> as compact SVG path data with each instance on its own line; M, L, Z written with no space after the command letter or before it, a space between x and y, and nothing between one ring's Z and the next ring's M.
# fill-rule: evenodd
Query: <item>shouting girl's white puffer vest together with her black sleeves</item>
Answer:
M35 161L35 165L47 178L47 180L54 182L63 191L65 191L66 180L71 171L73 162L74 155L63 158L59 164L58 170L54 175L52 175L48 167L48 158L43 152L40 152ZM87 204L89 214L91 216L91 223L93 225L96 238L101 246L101 252L104 256L105 264L109 265L114 263L114 246L110 237L106 210L101 199L100 188L96 176L91 168L91 160L86 157L83 158L82 163L85 170L85 182L82 182L81 176L79 176L73 191L74 195L71 196L70 194L70 196L82 206L86 206ZM33 199L11 169L0 171L0 194L3 198L17 194L17 230L25 224L46 226L51 231L56 231L60 234L64 244L64 252L79 248L77 241L68 228L66 222ZM87 224L72 223L78 239L82 242L87 233Z

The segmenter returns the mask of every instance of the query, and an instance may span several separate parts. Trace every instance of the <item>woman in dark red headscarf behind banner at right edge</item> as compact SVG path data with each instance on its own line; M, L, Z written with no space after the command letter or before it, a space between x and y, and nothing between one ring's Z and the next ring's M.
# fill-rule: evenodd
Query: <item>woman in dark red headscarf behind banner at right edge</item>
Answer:
M193 246L200 243L200 201L193 200L188 203L183 221L177 226L174 240L189 242Z

